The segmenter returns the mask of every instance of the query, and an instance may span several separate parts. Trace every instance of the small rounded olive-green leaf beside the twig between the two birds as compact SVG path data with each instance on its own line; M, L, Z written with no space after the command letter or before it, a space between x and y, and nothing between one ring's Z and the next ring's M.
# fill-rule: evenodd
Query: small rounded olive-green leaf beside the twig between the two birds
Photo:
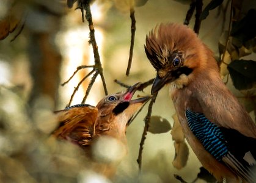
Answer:
M170 129L172 129L172 126L170 126L169 121L165 118L159 116L151 117L148 132L152 134L162 134L170 131Z

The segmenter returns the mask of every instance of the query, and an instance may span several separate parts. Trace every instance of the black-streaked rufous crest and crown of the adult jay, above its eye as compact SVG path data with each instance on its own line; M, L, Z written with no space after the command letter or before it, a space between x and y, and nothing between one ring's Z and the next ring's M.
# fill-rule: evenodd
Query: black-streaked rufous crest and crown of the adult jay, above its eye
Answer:
M188 26L176 23L160 24L156 26L146 37L145 52L150 63L156 70L167 68L171 65L172 54L182 55L184 64L190 68L202 66L202 63L186 62L188 59L203 60L198 57L202 49L208 49L197 34ZM201 49L201 51L200 51ZM208 50L210 51L210 50ZM212 52L210 51L211 55ZM205 54L200 54L204 56Z

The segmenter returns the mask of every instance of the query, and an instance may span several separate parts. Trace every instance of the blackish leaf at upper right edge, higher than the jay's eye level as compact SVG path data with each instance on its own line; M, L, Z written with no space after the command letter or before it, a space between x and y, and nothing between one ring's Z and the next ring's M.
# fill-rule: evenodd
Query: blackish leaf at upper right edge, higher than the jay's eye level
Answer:
M243 44L256 37L256 10L251 9L246 16L232 25L230 35L238 38Z

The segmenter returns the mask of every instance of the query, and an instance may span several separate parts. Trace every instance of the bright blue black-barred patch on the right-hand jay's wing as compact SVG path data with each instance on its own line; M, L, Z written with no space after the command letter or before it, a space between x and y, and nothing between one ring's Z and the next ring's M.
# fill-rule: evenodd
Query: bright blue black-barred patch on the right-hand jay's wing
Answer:
M186 118L193 134L212 156L220 161L227 155L227 142L216 124L211 123L203 113L192 112L189 109L186 110Z

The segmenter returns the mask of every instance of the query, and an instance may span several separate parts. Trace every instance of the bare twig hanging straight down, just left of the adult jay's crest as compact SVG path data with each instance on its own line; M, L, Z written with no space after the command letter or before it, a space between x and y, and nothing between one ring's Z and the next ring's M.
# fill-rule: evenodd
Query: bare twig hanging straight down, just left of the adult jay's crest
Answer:
M135 39L135 31L136 31L135 11L134 11L133 5L131 5L131 9L130 9L130 18L131 18L131 45L130 45L128 66L126 69L126 76L129 76L130 70L131 70L131 62L133 61L133 47L134 47L134 39Z

